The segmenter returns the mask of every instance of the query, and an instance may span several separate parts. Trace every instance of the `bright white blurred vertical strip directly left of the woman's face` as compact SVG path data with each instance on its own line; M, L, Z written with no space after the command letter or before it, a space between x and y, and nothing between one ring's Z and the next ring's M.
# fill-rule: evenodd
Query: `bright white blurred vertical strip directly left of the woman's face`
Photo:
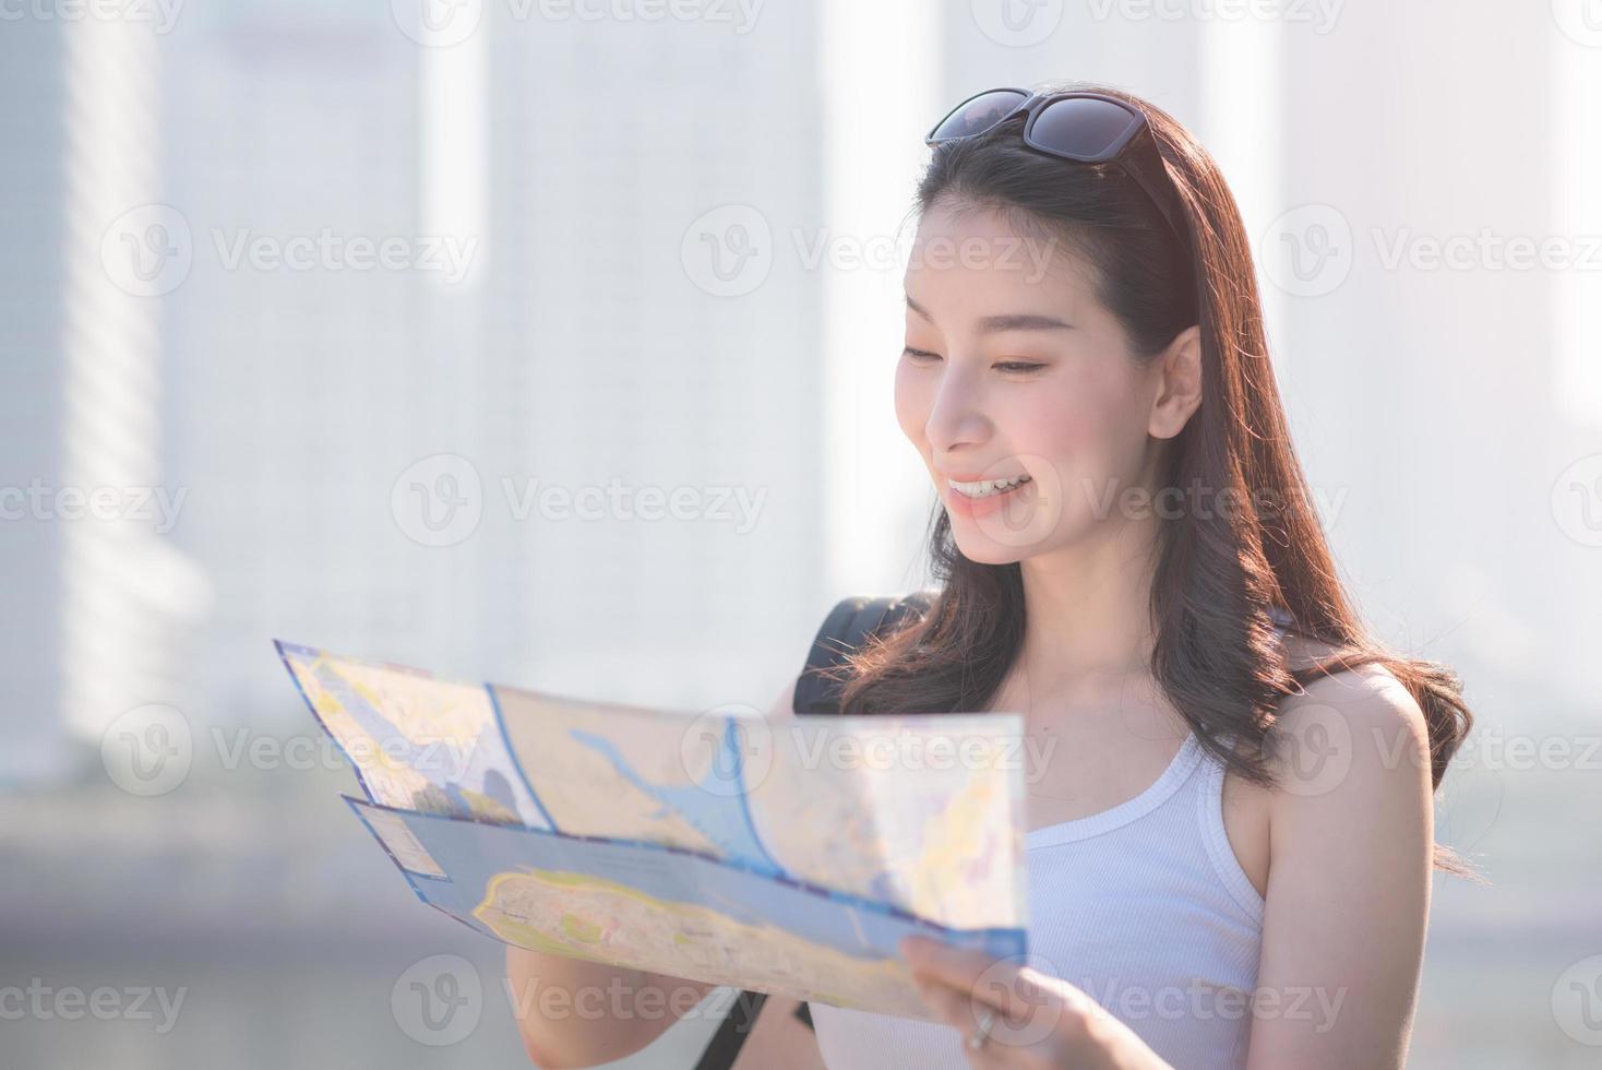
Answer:
M894 410L905 330L907 221L939 119L939 19L913 0L819 5L823 211L860 269L823 276L825 583L839 594L918 586L934 490ZM844 245L844 243L849 243ZM894 247L894 263L878 250ZM839 264L847 264L839 259Z

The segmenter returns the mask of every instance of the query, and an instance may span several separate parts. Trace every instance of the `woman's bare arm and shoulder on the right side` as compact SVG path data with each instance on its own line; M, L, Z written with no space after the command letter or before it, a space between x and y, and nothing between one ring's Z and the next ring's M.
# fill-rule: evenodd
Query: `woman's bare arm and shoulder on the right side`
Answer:
M1280 703L1248 1067L1402 1067L1429 919L1424 714L1384 668Z

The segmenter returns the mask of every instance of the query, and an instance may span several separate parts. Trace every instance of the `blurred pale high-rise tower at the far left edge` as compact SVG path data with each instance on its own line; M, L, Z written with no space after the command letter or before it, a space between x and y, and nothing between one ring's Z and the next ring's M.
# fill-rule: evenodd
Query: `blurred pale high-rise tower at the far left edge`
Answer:
M167 541L165 284L189 235L160 197L159 40L117 18L8 22L0 780L66 772L123 711L184 703L207 585Z

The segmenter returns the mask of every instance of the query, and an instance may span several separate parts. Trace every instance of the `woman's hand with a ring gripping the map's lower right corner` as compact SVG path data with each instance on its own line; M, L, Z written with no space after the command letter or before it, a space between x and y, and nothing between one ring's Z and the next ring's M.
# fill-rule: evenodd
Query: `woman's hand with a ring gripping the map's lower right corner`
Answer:
M963 1035L974 1067L1173 1070L1129 1027L1059 977L924 937L904 939L900 950L924 1004ZM974 1036L985 1032L976 1048Z

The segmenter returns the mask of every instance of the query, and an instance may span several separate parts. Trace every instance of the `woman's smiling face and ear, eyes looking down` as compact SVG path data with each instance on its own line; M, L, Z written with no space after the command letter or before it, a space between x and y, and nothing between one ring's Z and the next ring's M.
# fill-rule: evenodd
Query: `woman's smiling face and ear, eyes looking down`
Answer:
M1197 328L1142 364L1094 280L1062 239L996 211L942 199L920 221L896 418L971 561L1022 561L1126 522L1120 495L1150 489L1160 440L1200 404Z

